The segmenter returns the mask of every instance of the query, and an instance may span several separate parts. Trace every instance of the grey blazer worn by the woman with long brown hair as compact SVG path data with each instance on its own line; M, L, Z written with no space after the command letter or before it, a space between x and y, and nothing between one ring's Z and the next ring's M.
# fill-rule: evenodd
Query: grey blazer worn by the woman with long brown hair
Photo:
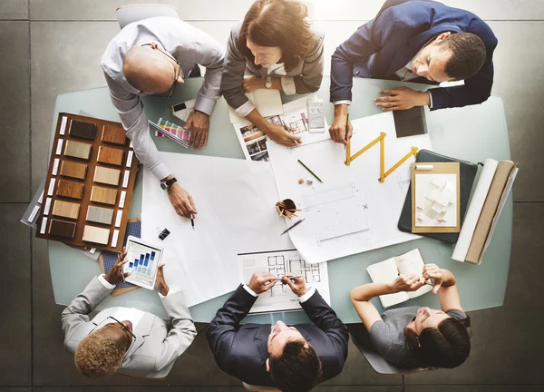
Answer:
M262 78L267 77L267 69L255 65L238 49L238 34L242 23L239 22L230 30L227 43L227 54L223 63L223 75L221 78L221 93L227 103L234 109L248 102L248 97L242 88L244 74L252 74ZM314 93L319 90L323 79L323 40L325 33L318 33L311 29L312 44L306 57L296 68L287 72L286 76L292 76L296 86L296 93ZM277 75L271 75L272 77Z

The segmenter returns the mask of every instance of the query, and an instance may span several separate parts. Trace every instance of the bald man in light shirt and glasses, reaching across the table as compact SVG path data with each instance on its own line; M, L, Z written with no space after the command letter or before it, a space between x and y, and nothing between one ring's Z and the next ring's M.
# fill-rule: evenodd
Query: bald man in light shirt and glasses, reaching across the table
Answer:
M189 144L201 149L208 144L209 116L220 96L225 49L208 34L172 17L153 17L126 25L102 55L102 70L113 106L131 139L136 156L160 180L174 210L191 218L197 213L188 191L180 186L162 161L151 139L143 113L141 94L170 97L186 77L206 75L197 95L195 111L184 128L192 128ZM153 119L156 120L156 119Z

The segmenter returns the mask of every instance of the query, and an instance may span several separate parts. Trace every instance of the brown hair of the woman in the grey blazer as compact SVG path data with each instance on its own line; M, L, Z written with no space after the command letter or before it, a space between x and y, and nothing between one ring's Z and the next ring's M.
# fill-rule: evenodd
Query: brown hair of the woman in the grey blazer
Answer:
M257 0L240 28L238 50L253 62L255 56L246 44L248 38L259 46L278 46L286 71L294 69L310 50L313 34L305 20L307 15L306 5L293 0Z

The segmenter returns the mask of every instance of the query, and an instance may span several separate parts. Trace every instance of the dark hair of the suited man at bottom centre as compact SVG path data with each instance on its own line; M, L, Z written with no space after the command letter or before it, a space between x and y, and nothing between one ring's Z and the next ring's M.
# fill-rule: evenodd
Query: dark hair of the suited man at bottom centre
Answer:
M283 392L306 392L321 378L321 360L306 341L288 341L279 357L270 356L270 376Z

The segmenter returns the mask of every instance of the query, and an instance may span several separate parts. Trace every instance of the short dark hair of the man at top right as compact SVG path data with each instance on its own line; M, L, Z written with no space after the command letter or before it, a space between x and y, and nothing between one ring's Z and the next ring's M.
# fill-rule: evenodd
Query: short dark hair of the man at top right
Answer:
M452 51L444 72L455 80L469 79L480 71L485 62L485 45L480 37L471 33L451 34L439 44Z

